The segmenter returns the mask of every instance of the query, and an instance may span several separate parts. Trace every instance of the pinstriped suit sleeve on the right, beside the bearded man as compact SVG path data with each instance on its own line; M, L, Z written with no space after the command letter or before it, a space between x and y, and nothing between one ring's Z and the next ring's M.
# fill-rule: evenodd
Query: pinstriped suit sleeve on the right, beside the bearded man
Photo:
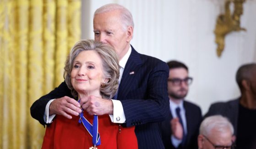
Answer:
M129 96L135 98L121 100L127 127L161 122L170 112L167 92L169 67L165 62L158 61L152 71L146 73L146 85L129 92Z

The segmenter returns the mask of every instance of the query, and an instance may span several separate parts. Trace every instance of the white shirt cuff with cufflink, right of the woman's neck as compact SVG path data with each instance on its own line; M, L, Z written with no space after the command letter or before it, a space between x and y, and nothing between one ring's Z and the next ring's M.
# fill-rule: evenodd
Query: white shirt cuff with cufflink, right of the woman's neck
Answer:
M125 123L125 113L123 105L119 100L113 100L113 115L109 114L109 117L113 123Z

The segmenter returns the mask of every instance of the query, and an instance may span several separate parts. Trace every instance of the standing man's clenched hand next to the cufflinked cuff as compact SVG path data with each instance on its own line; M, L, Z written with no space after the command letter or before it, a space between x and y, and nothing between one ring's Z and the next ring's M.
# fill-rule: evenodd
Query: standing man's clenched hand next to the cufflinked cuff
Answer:
M113 103L109 99L98 98L93 95L81 98L80 104L90 115L113 114Z

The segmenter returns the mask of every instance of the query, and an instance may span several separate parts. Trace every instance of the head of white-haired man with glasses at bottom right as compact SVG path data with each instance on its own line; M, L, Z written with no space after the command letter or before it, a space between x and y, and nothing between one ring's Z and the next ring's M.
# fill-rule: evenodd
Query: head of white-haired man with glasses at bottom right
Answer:
M227 118L207 117L200 125L198 149L234 149L233 134L234 128Z

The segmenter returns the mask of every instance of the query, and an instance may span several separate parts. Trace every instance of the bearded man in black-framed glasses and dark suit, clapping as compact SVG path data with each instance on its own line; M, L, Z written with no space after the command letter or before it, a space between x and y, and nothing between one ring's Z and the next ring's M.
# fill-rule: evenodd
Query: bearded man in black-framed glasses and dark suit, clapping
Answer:
M178 61L167 64L171 113L162 123L163 144L165 149L198 149L196 140L202 112L196 104L184 100L192 83L192 78L188 76L188 67Z

